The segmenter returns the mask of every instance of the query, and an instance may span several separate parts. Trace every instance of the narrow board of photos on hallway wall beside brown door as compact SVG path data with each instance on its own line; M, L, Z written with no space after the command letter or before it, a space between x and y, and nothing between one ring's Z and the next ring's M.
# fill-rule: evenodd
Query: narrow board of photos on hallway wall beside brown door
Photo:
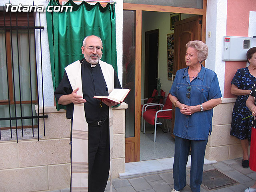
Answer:
M167 34L167 78L172 80L174 62L174 33Z

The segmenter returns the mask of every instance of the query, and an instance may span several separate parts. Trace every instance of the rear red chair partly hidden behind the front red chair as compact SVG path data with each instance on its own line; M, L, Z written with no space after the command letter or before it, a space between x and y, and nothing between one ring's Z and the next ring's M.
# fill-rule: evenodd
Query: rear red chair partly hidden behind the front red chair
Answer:
M164 99L161 98L160 100L154 98L155 96L158 95L158 92L156 89L153 90L152 96L150 98L145 98L145 99L141 99L141 100L148 100L148 102L146 104L140 104L140 116L143 116L145 107L148 105L152 105L152 104L159 104L159 103L163 103ZM161 96L164 97L165 92L161 89ZM158 102L157 102L158 101ZM159 110L159 107L157 106L149 106L148 110ZM142 123L141 123L141 132L143 131L143 118L142 118Z

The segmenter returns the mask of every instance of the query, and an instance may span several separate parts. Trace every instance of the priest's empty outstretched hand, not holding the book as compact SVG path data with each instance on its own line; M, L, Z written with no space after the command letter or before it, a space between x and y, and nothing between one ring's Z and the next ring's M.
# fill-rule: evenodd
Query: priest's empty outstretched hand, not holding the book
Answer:
M59 98L58 103L61 105L68 105L70 103L74 104L81 104L85 103L86 100L83 99L83 96L76 94L76 92L79 90L79 88L76 88L71 94L69 95L62 95Z

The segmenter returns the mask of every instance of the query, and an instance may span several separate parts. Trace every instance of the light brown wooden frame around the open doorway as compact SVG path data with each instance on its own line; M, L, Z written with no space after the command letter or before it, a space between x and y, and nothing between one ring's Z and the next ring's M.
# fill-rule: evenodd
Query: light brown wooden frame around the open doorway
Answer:
M203 0L203 8L183 8L172 6L146 5L124 3L124 10L134 10L136 12L135 24L135 130L134 137L125 138L125 143L131 147L127 147L125 162L140 161L140 99L141 99L141 53L142 53L142 11L170 12L202 15L202 41L206 39L206 4L207 0ZM166 69L167 70L167 69ZM127 154L132 155L127 156Z

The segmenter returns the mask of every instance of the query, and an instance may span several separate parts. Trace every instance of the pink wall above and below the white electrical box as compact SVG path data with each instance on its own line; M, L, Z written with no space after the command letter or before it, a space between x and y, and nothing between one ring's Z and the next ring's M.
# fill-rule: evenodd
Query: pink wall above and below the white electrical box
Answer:
M255 0L228 0L227 36L248 36L249 12L256 11ZM224 98L236 97L230 93L232 78L239 68L246 67L246 62L226 61Z

